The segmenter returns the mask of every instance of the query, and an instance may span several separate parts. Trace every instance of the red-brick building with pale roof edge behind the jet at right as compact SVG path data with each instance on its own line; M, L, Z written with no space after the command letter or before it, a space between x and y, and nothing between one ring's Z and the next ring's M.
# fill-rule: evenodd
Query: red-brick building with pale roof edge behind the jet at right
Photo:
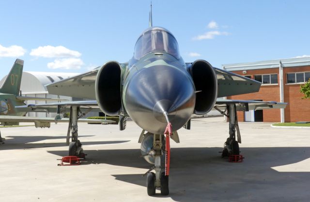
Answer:
M302 100L299 92L310 79L310 57L227 64L223 69L263 83L257 93L227 99L288 102L285 109L238 112L239 121L310 121L310 100Z

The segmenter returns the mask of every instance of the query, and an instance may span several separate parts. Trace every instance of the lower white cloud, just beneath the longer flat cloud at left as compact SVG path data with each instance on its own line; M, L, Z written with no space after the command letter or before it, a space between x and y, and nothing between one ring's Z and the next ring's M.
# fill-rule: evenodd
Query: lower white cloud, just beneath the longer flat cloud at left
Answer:
M84 63L80 58L55 59L54 62L47 63L51 69L80 69Z

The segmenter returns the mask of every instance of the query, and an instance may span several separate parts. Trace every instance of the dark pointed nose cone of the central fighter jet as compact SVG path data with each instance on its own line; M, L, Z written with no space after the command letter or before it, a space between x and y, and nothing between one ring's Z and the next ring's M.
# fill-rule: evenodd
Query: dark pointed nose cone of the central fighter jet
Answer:
M180 129L195 107L194 85L185 72L176 67L153 66L142 69L131 78L125 91L127 113L141 128L163 134L167 126Z

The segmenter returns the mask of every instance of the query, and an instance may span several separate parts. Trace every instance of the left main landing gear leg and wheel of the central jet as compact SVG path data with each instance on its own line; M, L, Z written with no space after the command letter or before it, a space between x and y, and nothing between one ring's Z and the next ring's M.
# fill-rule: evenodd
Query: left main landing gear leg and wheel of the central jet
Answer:
M69 145L69 156L78 156L80 158L85 158L85 154L83 153L83 148L81 142L78 140L78 118L80 114L80 110L78 106L70 107L70 118L69 118L69 126L67 133L66 143ZM69 144L71 132L71 142Z

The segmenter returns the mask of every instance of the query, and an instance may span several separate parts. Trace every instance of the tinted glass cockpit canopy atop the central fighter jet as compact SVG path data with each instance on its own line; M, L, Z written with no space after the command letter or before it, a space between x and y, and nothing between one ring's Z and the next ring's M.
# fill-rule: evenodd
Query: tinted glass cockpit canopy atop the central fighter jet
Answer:
M154 51L164 51L177 59L180 58L176 39L163 28L150 28L139 37L135 46L134 58L139 60L143 55Z

